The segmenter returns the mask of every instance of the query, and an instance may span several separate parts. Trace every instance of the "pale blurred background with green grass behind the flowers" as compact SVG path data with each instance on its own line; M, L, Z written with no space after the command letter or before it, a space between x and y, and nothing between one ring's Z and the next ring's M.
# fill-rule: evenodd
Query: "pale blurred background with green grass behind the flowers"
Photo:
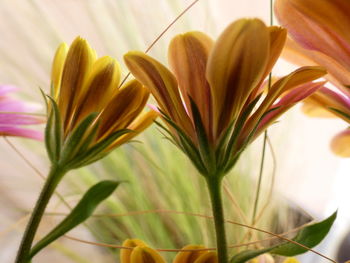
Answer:
M128 50L145 50L192 2L0 0L0 84L17 86L16 96L39 105L39 112L44 114L39 88L49 91L51 61L60 42L71 43L80 35L99 56L117 58L126 75L123 54ZM216 38L230 22L241 17L259 17L268 24L269 5L267 0L200 0L149 53L166 63L167 45L175 34L200 30ZM273 73L280 76L293 68L280 61ZM350 162L334 156L329 149L330 139L342 128L345 124L340 120L310 119L295 107L269 129L271 147L266 152L258 210L261 217L257 222L262 229L280 233L310 219L323 219L339 209L329 237L316 249L332 258L348 231L350 219L347 207ZM262 139L249 147L227 176L224 198L228 219L251 223L261 151ZM43 184L38 172L45 176L48 164L42 142L0 138L0 262L14 260L28 213ZM106 178L127 183L100 207L98 217L71 231L70 237L114 245L120 245L126 238L139 238L156 248L181 248L189 243L214 246L211 220L163 211L210 215L204 181L156 127L103 161L68 174L59 192L67 203L74 205L89 186ZM62 200L54 198L39 235L44 235L68 211ZM233 225L228 228L228 236L232 245L269 238ZM101 244L63 237L33 263L118 262L118 252ZM163 255L169 260L174 257L174 253ZM301 259L326 262L311 253Z

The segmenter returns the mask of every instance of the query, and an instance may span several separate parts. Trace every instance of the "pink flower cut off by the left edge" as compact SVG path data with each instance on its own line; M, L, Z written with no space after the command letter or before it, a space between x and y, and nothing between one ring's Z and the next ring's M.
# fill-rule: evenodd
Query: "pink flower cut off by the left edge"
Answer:
M31 105L7 95L15 90L14 86L0 85L0 135L42 140L41 131L22 128L22 125L43 123L43 118L30 113L34 109Z

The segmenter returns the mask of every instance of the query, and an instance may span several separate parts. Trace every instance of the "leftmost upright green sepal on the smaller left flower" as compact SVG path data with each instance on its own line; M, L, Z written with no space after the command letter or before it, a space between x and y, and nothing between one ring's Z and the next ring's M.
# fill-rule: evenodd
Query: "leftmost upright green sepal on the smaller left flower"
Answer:
M60 159L63 143L61 115L55 100L48 95L46 97L49 98L52 108L48 113L49 117L45 128L45 145L49 159L52 163L57 163Z

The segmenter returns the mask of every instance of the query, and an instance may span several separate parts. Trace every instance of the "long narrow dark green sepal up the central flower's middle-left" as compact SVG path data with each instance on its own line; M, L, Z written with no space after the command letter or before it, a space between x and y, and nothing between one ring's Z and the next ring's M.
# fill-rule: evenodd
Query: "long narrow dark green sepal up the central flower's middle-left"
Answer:
M194 127L198 139L199 153L201 159L203 160L203 163L205 164L208 173L216 174L216 160L214 149L212 145L210 145L209 138L205 131L205 127L203 125L202 117L200 115L198 107L193 101L193 99L190 96L188 97L191 102L192 117L194 120Z

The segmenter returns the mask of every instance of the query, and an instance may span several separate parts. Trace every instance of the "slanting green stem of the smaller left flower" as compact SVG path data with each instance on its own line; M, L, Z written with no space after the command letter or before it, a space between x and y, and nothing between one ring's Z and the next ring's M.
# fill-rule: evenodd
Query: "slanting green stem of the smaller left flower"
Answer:
M57 165L51 167L50 173L46 178L44 187L39 195L38 201L35 204L34 210L30 217L30 220L25 229L21 245L17 252L17 257L15 263L28 263L28 255L32 247L32 243L35 237L35 233L38 230L39 223L43 217L45 208L49 203L49 200L54 193L58 183L60 182L62 176L66 173L66 170L60 168Z

